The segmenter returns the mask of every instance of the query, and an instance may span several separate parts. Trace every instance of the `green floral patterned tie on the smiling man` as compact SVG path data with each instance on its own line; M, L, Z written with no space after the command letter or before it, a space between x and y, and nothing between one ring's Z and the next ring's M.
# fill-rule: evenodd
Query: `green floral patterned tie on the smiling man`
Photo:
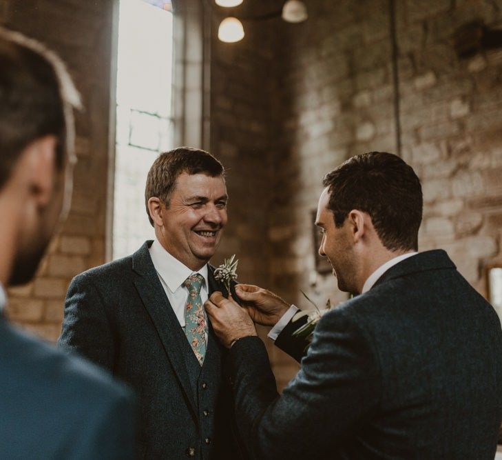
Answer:
M206 354L206 319L200 298L202 283L204 283L204 277L198 273L191 274L183 283L188 289L188 299L185 304L185 334L200 366L204 363Z

